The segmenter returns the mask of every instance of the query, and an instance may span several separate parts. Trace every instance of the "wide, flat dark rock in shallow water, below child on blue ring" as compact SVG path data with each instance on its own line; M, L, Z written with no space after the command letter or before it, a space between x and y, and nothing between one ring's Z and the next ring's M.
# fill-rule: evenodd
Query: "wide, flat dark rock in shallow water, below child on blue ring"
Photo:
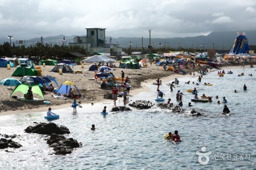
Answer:
M37 124L37 123L36 123ZM36 126L28 126L25 129L26 133L38 133L38 134L69 134L70 131L65 126L57 126L56 124L50 123L40 123Z

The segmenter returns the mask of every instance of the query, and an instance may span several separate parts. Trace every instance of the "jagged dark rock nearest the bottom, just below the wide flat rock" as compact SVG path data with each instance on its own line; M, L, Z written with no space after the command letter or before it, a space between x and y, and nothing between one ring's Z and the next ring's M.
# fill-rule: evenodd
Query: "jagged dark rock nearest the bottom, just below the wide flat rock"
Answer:
M80 147L82 143L77 142L73 138L65 138L63 135L51 134L51 137L47 139L49 147L53 147L56 155L71 154L73 148Z

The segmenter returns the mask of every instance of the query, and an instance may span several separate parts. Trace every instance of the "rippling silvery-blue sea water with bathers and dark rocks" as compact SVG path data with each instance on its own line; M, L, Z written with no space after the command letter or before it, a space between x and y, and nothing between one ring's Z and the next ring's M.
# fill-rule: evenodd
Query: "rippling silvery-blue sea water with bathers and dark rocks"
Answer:
M180 90L185 113L172 113L156 105L142 111L131 108L133 111L110 112L111 100L103 104L82 104L76 113L72 108L54 111L52 107L60 114L60 119L52 122L67 126L71 133L65 136L82 143L80 148L65 156L52 154L52 148L46 143L47 135L24 133L33 122L47 122L46 112L2 116L1 134L17 134L13 140L22 147L0 150L0 169L253 169L256 167L256 71L254 68L232 71L233 74L224 77L212 71L203 76L199 86L192 84L197 82L197 76L188 75L179 79L180 85L173 92L166 85L173 80L163 82L160 86L166 99L163 103L171 98L172 103L178 104L176 92ZM242 72L245 75L238 76ZM248 76L251 73L253 76ZM188 80L191 83L185 84ZM204 83L213 85L204 86ZM243 91L243 84L247 91ZM156 86L148 87L150 91L130 96L129 102L158 103L154 101ZM213 96L213 102L191 102L193 95L186 91L194 87L199 97ZM220 98L215 99L216 95ZM221 114L224 104L217 104L224 96L231 111L229 115ZM193 107L187 106L189 102ZM100 114L104 105L109 112L106 116ZM123 105L121 98L118 105ZM191 108L204 117L189 116ZM94 131L90 130L92 124L96 126ZM175 130L179 131L182 142L175 144L163 139L165 133Z

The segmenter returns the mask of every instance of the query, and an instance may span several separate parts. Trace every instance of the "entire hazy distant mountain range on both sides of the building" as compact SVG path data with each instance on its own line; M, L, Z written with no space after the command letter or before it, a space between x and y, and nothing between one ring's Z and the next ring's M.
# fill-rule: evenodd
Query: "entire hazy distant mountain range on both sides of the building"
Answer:
M231 49L234 40L237 37L237 32L242 31L225 31L225 32L212 32L207 36L195 36L195 37L175 37L175 38L166 38L166 39L160 39L160 38L151 38L151 46L152 48L203 48L203 45L206 49L214 48L215 49ZM256 31L246 31L246 37L249 41L249 45L256 45ZM59 36L52 36L52 37L43 37L43 43L49 43L49 44L59 44L62 45L63 42L68 45L69 42L73 42L73 36L65 36L65 35L59 35ZM86 36L86 35L80 35L80 36ZM65 41L63 41L65 37ZM110 41L110 37L106 37L107 42ZM19 40L11 39L11 44L13 42L15 45L17 44ZM147 47L149 42L149 37L143 37L143 46ZM3 42L9 42L9 39L0 39L0 44L3 44ZM41 38L35 38L30 40L25 40L25 43L27 45L31 45L36 42L41 42ZM114 38L112 37L112 43L113 44L119 44L123 48L129 48L131 42L131 48L140 48L142 46L142 37L118 37ZM164 43L166 42L166 43ZM24 43L24 40L23 40ZM18 44L17 44L18 45Z

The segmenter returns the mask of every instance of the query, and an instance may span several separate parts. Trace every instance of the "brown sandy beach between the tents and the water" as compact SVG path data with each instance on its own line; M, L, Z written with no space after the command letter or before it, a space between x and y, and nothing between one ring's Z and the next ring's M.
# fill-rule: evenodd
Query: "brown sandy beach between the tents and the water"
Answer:
M207 66L207 65L206 65ZM225 67L225 70L228 69L229 66L236 66L240 67L238 63L222 63L220 67ZM82 104L85 103L99 103L103 102L107 99L104 99L104 95L106 93L111 93L111 90L102 90L100 88L100 84L102 83L101 80L91 80L94 77L94 71L88 71L89 65L85 65L85 68L83 69L82 73L64 73L63 75L60 75L59 73L52 73L49 72L53 66L46 66L42 67L43 75L51 75L56 78L57 82L59 83L59 86L62 82L66 80L70 80L73 83L76 84L77 88L79 88L80 93L82 97L80 99L77 99L78 102L81 102ZM209 67L209 66L207 66ZM248 66L246 66L248 67ZM0 79L10 78L11 74L15 71L15 67L8 70L7 68L0 68L1 74ZM189 67L189 69L183 69L186 73L193 73L195 71L196 75L199 75L197 73L198 70L200 70L201 67L196 66L195 70L193 70L192 67ZM218 67L214 69L220 69ZM73 70L82 70L81 66L74 66ZM157 78L162 79L162 82L168 82L171 79L179 78L181 76L192 76L189 74L182 75L182 74L176 74L173 71L166 71L166 70L160 70L160 66L155 66L152 64L152 66L143 67L142 69L119 69L116 68L113 71L113 74L116 77L121 76L121 71L125 72L125 76L129 76L131 78L130 85L133 86L130 94L136 95L139 91L146 91L146 85L152 84L155 82ZM212 70L213 71L213 70ZM16 79L20 79L21 77L14 77ZM116 82L117 84L121 83ZM52 83L54 87L56 87L55 83ZM20 92L17 92L14 94L15 96L23 96ZM68 108L70 107L73 99L61 99L61 98L55 98L53 97L55 94L53 92L46 92L46 95L44 95L45 100L51 101L50 105L44 104L43 101L21 101L16 99L11 99L10 97L10 90L7 90L7 86L0 86L0 116L8 115L8 114L16 114L16 113L27 113L27 112L42 112L46 111L48 107L53 107L54 109L60 109L60 108ZM40 98L36 94L34 97ZM111 101L111 100L108 100Z

